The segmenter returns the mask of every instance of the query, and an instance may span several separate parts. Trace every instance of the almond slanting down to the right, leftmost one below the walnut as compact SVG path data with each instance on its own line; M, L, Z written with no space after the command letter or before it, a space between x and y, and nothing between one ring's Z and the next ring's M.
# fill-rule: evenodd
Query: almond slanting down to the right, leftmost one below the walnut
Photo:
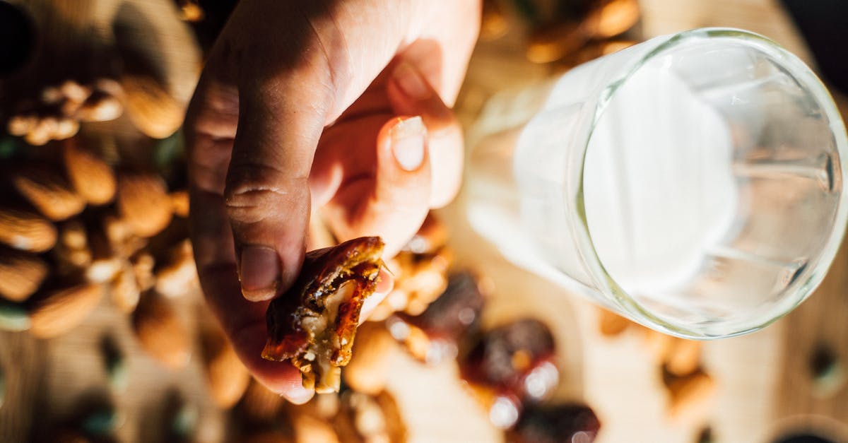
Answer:
M86 207L86 202L75 193L57 171L46 165L32 165L12 176L14 188L50 220L64 220L75 216Z

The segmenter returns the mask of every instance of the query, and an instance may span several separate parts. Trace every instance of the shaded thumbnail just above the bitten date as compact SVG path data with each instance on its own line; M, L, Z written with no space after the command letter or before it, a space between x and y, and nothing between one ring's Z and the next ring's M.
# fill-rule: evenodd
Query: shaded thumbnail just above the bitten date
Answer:
M267 300L274 296L280 280L280 257L265 246L245 246L242 250L242 293L248 300Z

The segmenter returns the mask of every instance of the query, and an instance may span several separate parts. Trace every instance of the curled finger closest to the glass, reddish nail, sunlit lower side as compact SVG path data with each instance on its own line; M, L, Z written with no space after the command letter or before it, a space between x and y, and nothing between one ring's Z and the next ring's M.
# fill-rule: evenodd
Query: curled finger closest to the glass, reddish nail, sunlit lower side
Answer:
M427 126L427 145L432 165L431 208L450 203L459 192L462 178L462 129L454 113L411 64L400 62L387 85L389 101L400 115L421 115Z

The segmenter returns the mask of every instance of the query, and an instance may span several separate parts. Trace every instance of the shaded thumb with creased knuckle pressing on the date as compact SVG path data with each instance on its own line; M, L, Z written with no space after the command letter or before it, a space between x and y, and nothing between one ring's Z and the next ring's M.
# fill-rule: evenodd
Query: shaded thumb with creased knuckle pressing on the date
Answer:
M325 115L303 83L239 88L238 129L224 189L242 293L269 300L303 262L309 173ZM289 83L289 85L285 84Z

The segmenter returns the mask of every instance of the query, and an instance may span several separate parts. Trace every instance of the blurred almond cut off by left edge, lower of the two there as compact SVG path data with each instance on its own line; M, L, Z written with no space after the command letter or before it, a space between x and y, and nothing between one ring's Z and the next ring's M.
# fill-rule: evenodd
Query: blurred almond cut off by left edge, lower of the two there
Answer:
M0 250L0 295L10 301L24 301L42 285L48 271L47 263L37 255Z

